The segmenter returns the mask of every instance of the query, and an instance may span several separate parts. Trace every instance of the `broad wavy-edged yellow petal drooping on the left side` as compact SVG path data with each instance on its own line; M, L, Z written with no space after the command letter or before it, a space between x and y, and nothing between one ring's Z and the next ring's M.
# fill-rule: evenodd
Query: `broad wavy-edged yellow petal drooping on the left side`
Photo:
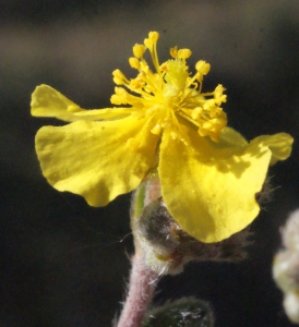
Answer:
M36 135L44 175L59 191L83 195L104 206L140 184L148 170L158 136L154 120L76 121L45 126Z

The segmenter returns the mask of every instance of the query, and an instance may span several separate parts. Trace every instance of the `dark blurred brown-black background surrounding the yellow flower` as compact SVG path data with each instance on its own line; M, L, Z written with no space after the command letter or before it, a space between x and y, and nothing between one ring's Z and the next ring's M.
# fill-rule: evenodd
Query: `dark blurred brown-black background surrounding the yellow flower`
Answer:
M55 120L29 114L31 94L51 85L83 108L105 108L111 72L129 76L132 46L160 33L159 55L177 45L212 64L204 89L222 83L229 125L247 138L288 132L290 159L271 168L277 187L252 225L249 258L191 264L159 283L155 302L210 301L216 327L287 327L272 280L279 227L299 207L299 2L0 1L0 326L111 326L132 254L130 195L105 208L59 193L43 178L34 135ZM228 195L229 196L229 195Z

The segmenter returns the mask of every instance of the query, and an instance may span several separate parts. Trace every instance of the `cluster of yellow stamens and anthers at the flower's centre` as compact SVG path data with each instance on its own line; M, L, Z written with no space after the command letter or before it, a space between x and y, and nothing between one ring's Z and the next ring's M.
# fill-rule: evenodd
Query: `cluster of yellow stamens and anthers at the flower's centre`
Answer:
M139 71L135 78L128 80L120 70L113 71L113 81L117 85L111 97L113 105L131 105L132 114L137 117L156 116L157 123L152 133L159 135L166 125L171 128L174 138L182 136L181 119L198 128L201 136L210 135L217 142L220 131L227 124L226 113L220 108L226 102L225 88L218 85L214 92L202 93L203 76L210 71L211 65L203 60L195 64L196 73L190 76L186 60L191 56L189 49L170 49L174 59L159 64L157 56L157 40L159 34L152 32L144 45L133 47L134 57L129 59L130 65ZM144 59L148 49L156 70L154 73Z

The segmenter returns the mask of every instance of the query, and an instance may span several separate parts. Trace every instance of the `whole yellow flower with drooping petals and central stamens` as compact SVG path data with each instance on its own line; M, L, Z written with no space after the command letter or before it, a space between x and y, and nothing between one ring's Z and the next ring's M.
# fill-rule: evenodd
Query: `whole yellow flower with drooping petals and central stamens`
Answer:
M72 123L44 126L36 152L44 175L59 191L105 206L136 189L157 170L162 195L174 219L202 242L217 242L246 228L259 214L255 202L268 165L286 159L290 135L260 136L248 143L226 126L224 87L202 93L210 64L199 61L191 76L189 49L170 50L159 63L158 33L133 47L135 78L113 72L113 105L84 110L47 85L32 96L32 114ZM148 50L154 71L144 59Z

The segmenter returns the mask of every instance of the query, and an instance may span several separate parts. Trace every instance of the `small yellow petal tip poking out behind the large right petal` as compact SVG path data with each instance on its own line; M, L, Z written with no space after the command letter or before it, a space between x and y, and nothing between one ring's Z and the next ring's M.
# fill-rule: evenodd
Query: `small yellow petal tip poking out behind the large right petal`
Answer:
M287 133L278 133L274 135L262 135L253 140L256 143L267 145L272 152L271 164L278 160L286 160L291 153L294 138Z

